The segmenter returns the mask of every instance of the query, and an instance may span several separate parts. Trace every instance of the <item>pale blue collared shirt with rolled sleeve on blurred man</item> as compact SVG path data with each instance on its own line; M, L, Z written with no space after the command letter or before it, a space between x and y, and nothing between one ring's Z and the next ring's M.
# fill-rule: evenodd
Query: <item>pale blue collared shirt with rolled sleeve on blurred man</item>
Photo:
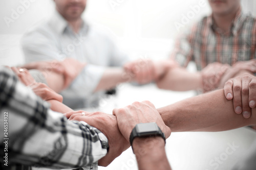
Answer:
M83 21L79 33L75 34L58 12L46 23L26 33L22 39L22 47L26 62L71 57L88 63L70 87L61 92L63 103L73 108L97 106L103 92L93 91L105 68L122 66L129 61L103 31ZM76 106L79 102L83 103L82 106Z

